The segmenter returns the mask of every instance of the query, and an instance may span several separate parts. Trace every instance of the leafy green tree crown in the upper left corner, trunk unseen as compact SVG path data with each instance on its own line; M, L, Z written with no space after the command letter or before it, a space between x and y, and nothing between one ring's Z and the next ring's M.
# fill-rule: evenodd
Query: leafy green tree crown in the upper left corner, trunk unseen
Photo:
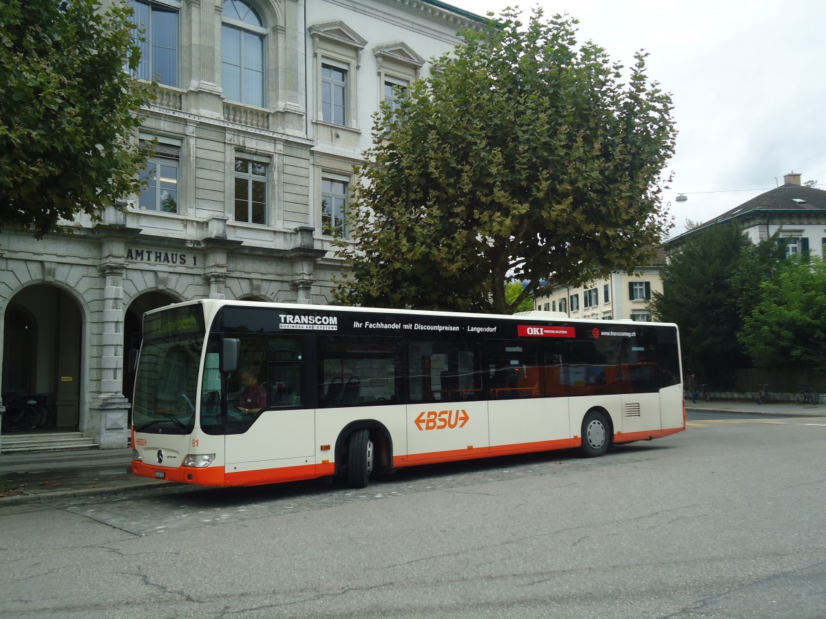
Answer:
M130 16L98 0L0 2L0 229L40 238L139 189L130 138L150 91L125 70L140 57Z

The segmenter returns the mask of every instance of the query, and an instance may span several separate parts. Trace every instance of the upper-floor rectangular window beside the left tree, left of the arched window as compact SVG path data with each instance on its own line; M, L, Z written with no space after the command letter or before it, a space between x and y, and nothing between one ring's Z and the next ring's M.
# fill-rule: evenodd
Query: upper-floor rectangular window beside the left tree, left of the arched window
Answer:
M140 49L135 77L178 86L178 11L155 2L137 0L131 0L129 6L135 11L132 16L135 22L133 38Z

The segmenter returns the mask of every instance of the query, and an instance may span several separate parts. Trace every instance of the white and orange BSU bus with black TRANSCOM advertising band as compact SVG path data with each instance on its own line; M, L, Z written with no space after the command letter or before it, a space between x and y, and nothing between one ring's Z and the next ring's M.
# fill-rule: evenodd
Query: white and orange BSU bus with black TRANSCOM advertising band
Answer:
M681 376L674 324L192 301L145 314L132 470L363 488L402 466L601 456L684 430Z

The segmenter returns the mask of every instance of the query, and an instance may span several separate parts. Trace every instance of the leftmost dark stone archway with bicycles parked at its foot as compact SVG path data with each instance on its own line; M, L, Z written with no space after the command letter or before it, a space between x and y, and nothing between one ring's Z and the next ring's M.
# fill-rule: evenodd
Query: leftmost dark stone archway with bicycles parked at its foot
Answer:
M3 394L38 395L50 416L36 429L77 430L80 417L83 316L57 286L27 286L3 319Z

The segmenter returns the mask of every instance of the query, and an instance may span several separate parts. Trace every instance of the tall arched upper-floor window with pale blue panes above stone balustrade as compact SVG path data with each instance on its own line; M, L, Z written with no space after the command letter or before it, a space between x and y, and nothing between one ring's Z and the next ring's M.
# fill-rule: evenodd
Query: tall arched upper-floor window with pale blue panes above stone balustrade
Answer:
M263 22L241 0L225 0L222 19L224 94L230 101L263 107Z

